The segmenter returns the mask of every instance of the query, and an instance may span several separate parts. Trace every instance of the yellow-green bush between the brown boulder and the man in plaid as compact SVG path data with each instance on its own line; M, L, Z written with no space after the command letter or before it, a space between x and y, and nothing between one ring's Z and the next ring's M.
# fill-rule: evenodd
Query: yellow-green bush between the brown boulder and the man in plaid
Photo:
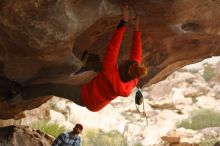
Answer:
M47 133L54 138L66 131L65 127L59 126L57 123L49 123L48 121L38 121L32 124L34 129L38 129L43 133Z

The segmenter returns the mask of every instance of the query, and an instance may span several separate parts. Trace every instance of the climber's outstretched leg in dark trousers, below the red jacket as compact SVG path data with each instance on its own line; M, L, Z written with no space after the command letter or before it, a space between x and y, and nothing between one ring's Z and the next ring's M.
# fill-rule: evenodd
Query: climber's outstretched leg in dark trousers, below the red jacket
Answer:
M21 97L23 100L33 99L40 96L54 95L72 100L74 103L83 106L80 97L81 86L67 84L38 84L22 87Z

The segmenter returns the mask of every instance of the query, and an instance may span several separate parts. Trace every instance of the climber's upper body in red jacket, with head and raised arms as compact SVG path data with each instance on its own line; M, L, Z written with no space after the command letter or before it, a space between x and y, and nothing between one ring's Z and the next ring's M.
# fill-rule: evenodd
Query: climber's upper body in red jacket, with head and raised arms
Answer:
M91 111L98 111L117 96L129 96L138 83L138 77L146 75L147 69L141 65L142 42L139 31L139 17L135 20L133 45L130 59L117 67L119 48L128 23L128 7L123 8L121 20L105 53L101 72L82 87L81 98L84 106Z

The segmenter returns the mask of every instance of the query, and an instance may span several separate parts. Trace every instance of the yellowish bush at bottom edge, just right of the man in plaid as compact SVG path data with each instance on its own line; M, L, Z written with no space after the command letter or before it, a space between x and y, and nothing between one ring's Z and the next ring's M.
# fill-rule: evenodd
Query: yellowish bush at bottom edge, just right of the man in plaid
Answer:
M104 132L98 129L89 129L83 132L83 146L127 146L123 134L117 130Z

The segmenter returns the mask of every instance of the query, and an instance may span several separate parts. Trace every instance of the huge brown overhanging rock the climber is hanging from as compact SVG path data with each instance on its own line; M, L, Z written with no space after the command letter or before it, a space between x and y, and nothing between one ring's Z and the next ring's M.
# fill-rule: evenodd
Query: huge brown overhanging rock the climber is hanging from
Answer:
M0 75L20 83L61 80L73 83L70 74L79 68L78 58L85 49L103 57L124 2L1 0ZM161 81L186 64L220 54L219 1L126 0L126 3L132 17L136 13L142 18L143 62L149 67L148 76L140 82L142 86ZM119 62L128 56L131 34L129 26ZM74 81L79 80L82 79ZM33 105L29 106L36 107L42 101L31 102ZM16 112L9 111L8 117L25 108L27 105L14 108Z

